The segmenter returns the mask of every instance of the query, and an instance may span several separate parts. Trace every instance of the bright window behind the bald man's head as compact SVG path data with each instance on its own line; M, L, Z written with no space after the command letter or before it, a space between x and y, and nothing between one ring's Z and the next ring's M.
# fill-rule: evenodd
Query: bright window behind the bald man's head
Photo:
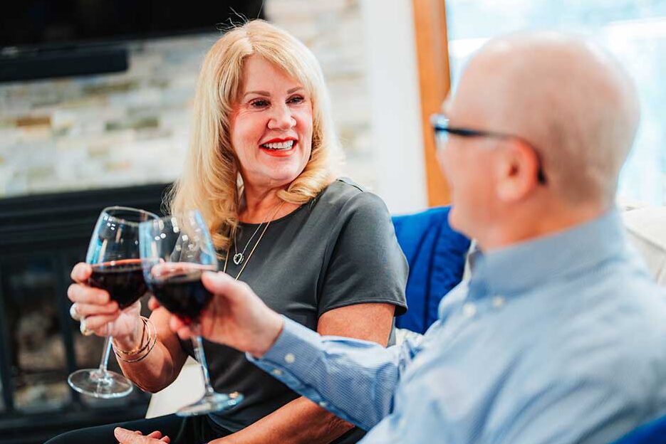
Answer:
M447 0L452 86L488 38L527 29L591 34L638 85L641 123L620 174L625 199L666 203L666 2L663 0Z

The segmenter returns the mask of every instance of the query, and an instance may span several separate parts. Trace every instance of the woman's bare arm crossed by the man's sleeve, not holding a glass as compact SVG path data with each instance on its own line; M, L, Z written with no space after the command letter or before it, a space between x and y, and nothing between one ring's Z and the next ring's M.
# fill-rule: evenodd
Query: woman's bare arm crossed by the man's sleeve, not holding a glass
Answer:
M369 303L340 307L321 315L317 332L323 335L365 339L386 346L395 305ZM297 398L243 430L215 444L330 443L353 425L316 405Z

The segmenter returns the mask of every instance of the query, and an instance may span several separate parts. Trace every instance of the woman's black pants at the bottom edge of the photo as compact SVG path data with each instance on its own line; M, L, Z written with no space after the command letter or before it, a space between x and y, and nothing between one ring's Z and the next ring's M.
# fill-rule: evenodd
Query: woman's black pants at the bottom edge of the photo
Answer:
M231 434L229 430L220 428L205 415L190 418L167 415L159 418L137 419L125 423L80 428L51 438L45 444L118 444L118 440L113 436L113 429L116 427L127 428L132 431L140 430L144 435L160 430L162 434L171 438L172 444L207 443L210 440Z

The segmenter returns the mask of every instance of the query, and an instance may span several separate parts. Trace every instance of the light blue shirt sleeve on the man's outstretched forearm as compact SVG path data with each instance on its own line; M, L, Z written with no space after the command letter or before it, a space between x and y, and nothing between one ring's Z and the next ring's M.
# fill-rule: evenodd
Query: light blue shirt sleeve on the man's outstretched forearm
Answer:
M322 337L284 318L274 346L249 361L289 388L364 430L370 430L393 407L402 372L415 356L407 341L381 347L375 342Z

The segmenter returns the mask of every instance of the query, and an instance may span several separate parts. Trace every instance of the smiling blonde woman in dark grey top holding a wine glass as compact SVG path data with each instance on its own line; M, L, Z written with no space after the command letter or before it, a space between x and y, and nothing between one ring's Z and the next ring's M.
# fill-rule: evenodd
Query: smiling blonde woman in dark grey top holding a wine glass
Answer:
M405 311L407 265L390 215L375 195L336 179L340 147L321 68L303 43L264 21L234 28L212 46L194 103L192 144L172 193L173 212L199 208L223 270L269 307L320 334L386 345ZM68 296L85 327L123 351L141 349L139 307L118 311L85 285L79 264ZM120 361L141 388L165 388L192 356L153 307L157 345ZM245 398L231 411L121 424L172 443L355 443L363 431L299 397L239 351L204 344L216 391ZM129 356L131 357L131 356ZM131 361L132 359L128 359ZM116 425L76 430L52 443L115 443Z

